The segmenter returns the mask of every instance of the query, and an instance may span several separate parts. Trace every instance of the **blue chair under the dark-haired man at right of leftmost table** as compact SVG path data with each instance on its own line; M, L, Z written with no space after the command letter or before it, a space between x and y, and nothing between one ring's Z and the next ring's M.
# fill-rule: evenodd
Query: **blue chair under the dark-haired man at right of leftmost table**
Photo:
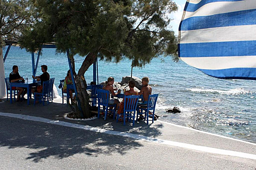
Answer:
M34 94L34 105L35 105L35 101L39 101L40 103L43 102L43 106L44 106L44 101L46 100L47 100L47 104L49 104L49 97L50 97L49 89L50 89L50 80L44 81L42 93L35 92Z

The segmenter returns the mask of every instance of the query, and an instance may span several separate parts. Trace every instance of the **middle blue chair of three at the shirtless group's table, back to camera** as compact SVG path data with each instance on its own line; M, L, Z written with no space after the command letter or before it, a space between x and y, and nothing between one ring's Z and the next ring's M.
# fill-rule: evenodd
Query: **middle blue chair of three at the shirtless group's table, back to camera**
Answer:
M140 96L137 96L137 95L124 96L124 110L121 113L122 117L120 117L120 119L124 121L124 125L125 125L125 119L129 119L129 122L131 122L131 118L133 119L132 125L134 125L136 108L139 101L139 97ZM119 120L119 114L117 114L116 116L116 122L118 122L118 120Z

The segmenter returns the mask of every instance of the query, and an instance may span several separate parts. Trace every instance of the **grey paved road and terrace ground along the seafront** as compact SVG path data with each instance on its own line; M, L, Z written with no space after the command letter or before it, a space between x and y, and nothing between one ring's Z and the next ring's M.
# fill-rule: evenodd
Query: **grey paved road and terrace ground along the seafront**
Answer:
M56 100L60 102L60 100ZM256 145L156 121L123 126L113 119L64 119L67 105L26 102L0 104L1 113L15 113L96 127L99 132L40 121L0 116L0 169L191 169L255 170ZM101 133L112 130L116 135ZM111 131L111 132L112 132ZM122 132L122 133L120 133ZM131 134L130 137L120 134ZM136 136L141 135L143 141ZM150 137L150 138L146 138ZM161 143L162 142L162 143ZM177 147L173 144L180 144ZM175 144L176 144L175 143ZM185 144L191 144L188 147ZM205 151L197 147L204 146ZM215 148L239 156L212 153ZM235 152L235 153L236 153Z

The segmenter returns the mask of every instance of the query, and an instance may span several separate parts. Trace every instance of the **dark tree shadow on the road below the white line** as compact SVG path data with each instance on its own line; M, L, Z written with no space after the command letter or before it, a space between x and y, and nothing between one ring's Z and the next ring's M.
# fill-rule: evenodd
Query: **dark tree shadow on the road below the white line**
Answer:
M9 149L33 149L26 159L32 159L34 162L48 157L63 159L78 153L87 156L113 153L125 155L129 150L143 146L141 142L128 137L0 117L3 122L0 127L0 146L9 147Z

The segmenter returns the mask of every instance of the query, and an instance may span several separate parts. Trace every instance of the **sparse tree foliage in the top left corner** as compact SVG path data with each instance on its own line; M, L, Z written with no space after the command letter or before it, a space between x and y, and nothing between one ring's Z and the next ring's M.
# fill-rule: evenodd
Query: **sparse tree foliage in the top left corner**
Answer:
M30 0L0 1L0 47L3 40L17 41L20 31L26 29L37 19Z

